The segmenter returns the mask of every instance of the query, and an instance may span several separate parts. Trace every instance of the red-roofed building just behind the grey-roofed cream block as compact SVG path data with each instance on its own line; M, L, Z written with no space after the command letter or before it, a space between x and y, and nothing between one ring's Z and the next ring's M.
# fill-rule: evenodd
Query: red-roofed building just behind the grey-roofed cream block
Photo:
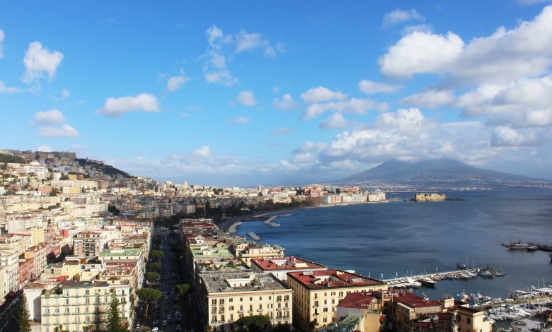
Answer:
M288 272L323 271L328 267L297 257L278 257L251 259L251 269L258 273L272 273L276 278L285 281Z

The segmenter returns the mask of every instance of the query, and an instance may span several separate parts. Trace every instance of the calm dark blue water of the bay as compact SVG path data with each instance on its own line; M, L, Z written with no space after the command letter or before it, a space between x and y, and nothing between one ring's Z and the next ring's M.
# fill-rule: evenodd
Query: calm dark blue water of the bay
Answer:
M439 299L462 290L505 297L510 289L552 285L552 263L543 251L508 251L511 239L552 244L552 191L454 191L465 201L378 203L292 211L280 227L243 223L261 242L280 244L287 256L391 278L487 264L507 273L493 280L442 280L417 292ZM388 194L408 198L413 194Z

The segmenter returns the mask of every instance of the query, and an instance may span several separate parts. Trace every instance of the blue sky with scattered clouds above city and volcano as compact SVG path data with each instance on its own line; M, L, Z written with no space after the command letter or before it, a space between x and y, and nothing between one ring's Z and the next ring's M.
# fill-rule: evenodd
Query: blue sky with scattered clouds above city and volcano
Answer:
M307 184L449 158L552 179L552 2L11 1L0 148Z

